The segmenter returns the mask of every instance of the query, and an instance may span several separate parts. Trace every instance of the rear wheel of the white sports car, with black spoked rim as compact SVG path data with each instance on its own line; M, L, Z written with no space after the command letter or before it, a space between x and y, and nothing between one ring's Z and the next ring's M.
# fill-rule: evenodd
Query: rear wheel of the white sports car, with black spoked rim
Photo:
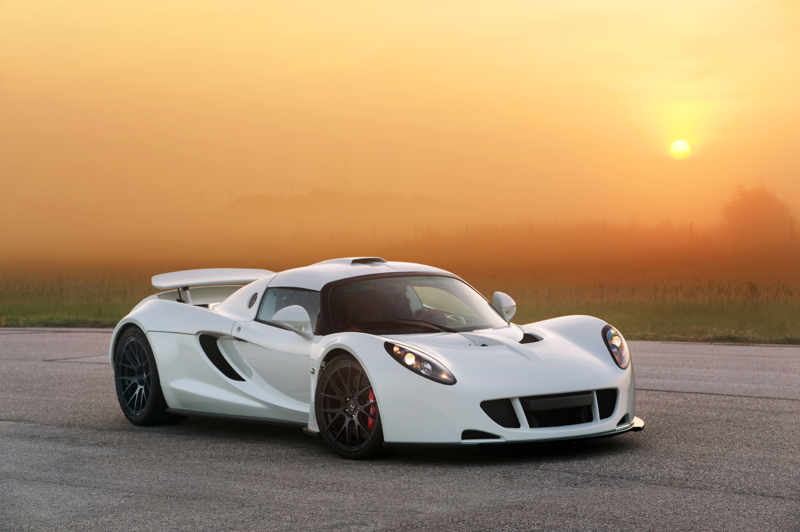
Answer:
M126 329L117 340L114 382L122 413L134 425L164 425L186 419L167 412L153 350L138 327Z

